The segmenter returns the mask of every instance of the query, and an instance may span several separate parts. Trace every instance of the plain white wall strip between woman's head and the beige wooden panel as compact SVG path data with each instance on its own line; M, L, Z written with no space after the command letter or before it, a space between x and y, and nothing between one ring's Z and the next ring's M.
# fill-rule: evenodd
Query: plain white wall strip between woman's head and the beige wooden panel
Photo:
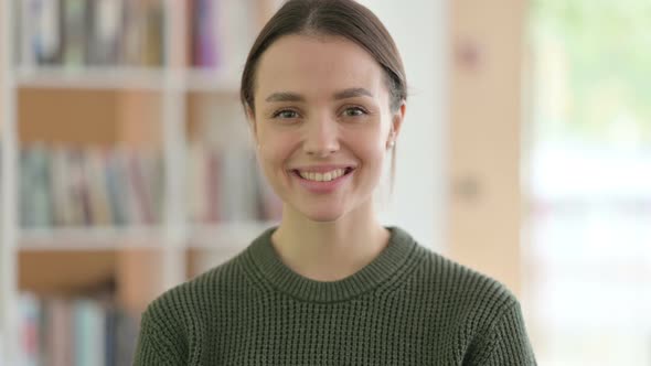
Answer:
M447 0L359 0L384 22L407 73L407 115L396 143L396 181L383 222L442 250L447 206Z

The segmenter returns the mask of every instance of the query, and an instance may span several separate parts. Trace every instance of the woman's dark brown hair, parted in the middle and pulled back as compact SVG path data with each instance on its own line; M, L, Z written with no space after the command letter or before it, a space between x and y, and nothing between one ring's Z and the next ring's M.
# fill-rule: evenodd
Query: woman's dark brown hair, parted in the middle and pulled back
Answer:
M403 61L388 31L373 12L353 0L289 0L263 28L246 58L239 90L245 109L255 112L254 90L260 56L275 41L289 34L338 35L356 43L384 69L391 110L397 111L407 99Z

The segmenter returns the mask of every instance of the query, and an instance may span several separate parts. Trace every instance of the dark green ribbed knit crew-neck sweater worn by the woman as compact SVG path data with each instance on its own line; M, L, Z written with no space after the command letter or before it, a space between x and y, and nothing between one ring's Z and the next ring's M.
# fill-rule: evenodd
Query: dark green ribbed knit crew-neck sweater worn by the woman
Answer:
M389 229L334 282L287 268L266 230L149 305L135 365L535 365L503 286Z

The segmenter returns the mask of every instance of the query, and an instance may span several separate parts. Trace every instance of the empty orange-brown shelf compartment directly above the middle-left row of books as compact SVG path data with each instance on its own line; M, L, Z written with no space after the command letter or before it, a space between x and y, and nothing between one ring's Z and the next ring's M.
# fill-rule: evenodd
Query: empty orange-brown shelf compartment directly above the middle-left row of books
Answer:
M162 144L160 96L151 90L18 90L21 143L110 148Z

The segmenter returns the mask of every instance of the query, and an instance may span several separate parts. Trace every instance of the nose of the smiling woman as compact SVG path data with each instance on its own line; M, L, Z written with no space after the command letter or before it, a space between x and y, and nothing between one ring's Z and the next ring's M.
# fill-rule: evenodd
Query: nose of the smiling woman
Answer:
M323 116L306 123L303 151L310 155L327 157L339 151L339 126L334 118Z

